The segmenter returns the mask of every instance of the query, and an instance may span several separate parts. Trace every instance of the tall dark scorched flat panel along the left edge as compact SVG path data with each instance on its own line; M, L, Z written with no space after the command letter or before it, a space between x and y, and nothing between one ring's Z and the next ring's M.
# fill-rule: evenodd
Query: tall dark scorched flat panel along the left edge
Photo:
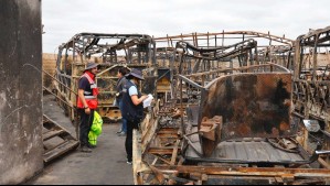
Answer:
M0 1L0 184L43 168L40 0Z

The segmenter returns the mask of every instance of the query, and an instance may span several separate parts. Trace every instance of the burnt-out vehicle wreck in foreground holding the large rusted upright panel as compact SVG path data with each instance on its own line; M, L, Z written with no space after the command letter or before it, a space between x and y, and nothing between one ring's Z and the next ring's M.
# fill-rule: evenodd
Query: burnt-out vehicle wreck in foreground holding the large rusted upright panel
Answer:
M167 37L178 40L174 50L164 47L174 56L172 97L157 101L134 131L135 184L329 184L319 154L296 141L291 73L284 67L292 67L290 40L259 46L246 37L284 40L226 34L243 36L220 46L209 40L221 34Z

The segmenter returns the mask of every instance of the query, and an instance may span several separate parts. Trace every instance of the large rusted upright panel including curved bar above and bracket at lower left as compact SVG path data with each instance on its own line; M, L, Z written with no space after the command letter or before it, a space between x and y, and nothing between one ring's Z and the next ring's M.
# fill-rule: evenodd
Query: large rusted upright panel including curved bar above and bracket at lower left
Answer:
M232 75L207 80L220 73ZM187 94L201 98L198 124L205 156L210 156L217 143L224 140L294 134L295 128L290 124L291 75L286 68L265 64L195 73L179 78L187 84ZM200 83L200 79L205 83ZM203 87L200 84L206 85ZM210 139L203 129L203 122L214 117L222 117L222 122L213 121L219 127L214 125L213 131L209 131L213 132L213 138Z

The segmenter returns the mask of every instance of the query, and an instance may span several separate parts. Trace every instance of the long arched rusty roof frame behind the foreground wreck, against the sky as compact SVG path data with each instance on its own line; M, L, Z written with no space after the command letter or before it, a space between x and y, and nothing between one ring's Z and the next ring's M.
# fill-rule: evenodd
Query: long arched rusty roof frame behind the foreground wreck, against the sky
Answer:
M172 51L178 48L178 43L189 43L188 46L191 48L199 48L200 51L214 51L221 50L225 52L233 45L237 45L241 42L255 41L257 43L257 53L254 53L257 57L255 58L244 58L244 53L236 53L241 55L238 57L242 66L246 65L246 61L255 61L255 64L263 63L275 63L285 66L289 69L292 67L292 56L291 50L294 46L294 40L283 36L277 36L268 33L255 32L255 31L222 31L217 33L191 33L191 34L180 34L180 35L167 35L164 37L155 37L158 48L162 48L167 56L172 56ZM194 51L193 55L199 53ZM175 55L177 63L179 64L179 54ZM219 57L220 58L220 57ZM223 59L222 59L223 61ZM258 62L258 63L257 63ZM173 66L179 66L178 64L172 64ZM188 64L187 64L188 65ZM219 66L216 66L219 67ZM192 72L192 69L190 69Z

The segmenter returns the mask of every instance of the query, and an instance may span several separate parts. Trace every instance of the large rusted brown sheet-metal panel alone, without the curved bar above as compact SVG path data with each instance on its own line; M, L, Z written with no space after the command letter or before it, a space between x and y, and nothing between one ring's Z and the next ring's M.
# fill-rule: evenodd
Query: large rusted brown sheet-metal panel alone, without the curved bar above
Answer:
M201 118L223 117L221 140L274 138L290 129L290 74L242 74L221 77L202 96Z

